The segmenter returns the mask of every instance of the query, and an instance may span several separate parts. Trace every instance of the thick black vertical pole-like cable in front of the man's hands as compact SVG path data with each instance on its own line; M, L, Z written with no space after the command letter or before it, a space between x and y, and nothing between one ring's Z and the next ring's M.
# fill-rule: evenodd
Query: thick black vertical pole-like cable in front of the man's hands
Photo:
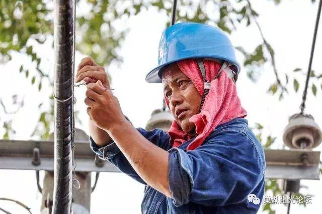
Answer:
M54 0L54 195L52 213L70 213L75 1Z

